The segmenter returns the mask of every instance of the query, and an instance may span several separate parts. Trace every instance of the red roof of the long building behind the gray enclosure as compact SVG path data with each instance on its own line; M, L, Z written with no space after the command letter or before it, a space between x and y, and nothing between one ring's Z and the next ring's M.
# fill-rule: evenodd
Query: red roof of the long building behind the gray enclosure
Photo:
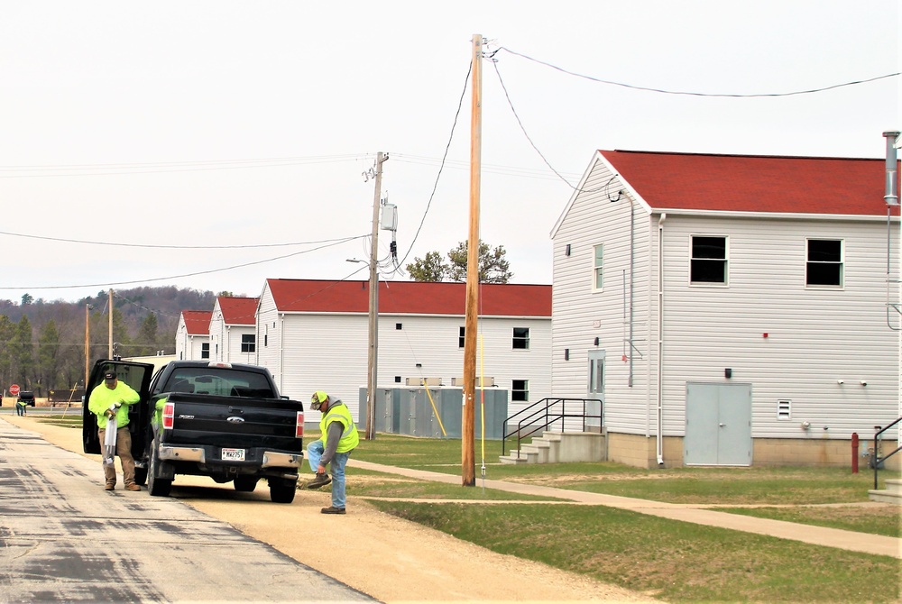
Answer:
M281 312L369 312L368 281L267 279ZM380 281L379 312L404 315L465 315L465 283ZM550 285L483 284L483 316L551 316Z

